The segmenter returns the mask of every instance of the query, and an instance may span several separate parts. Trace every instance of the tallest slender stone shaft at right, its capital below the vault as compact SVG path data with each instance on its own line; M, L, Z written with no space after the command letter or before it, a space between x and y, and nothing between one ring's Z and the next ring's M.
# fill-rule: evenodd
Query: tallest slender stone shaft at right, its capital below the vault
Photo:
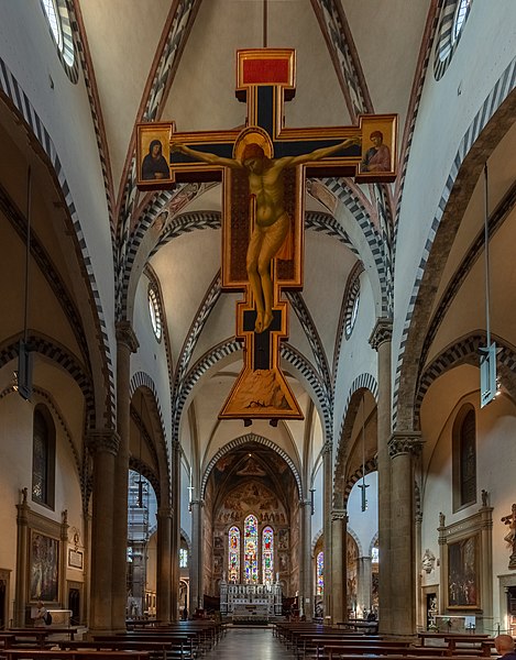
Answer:
M391 339L393 323L380 318L370 338L370 344L378 353L378 631L391 631L391 459L388 440L392 430L392 373Z

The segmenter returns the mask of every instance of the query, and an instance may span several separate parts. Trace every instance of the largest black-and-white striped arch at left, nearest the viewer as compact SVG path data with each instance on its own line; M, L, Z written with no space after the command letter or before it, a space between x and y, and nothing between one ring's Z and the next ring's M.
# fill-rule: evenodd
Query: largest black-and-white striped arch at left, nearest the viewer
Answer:
M95 304L96 317L95 320L98 323L98 334L101 338L99 349L99 354L102 356L103 362L103 372L107 374L107 403L106 403L106 424L110 425L112 428L116 428L117 416L116 416L116 394L114 394L114 373L113 365L111 361L111 349L109 344L109 338L107 332L107 324L105 320L105 314L102 309L102 301L100 298L99 289L97 286L97 282L95 278L95 274L92 268L88 265L91 264L91 258L88 253L88 249L86 245L86 239L83 233L83 229L80 227L79 218L75 209L75 202L72 197L72 193L68 186L68 182L66 180L65 173L63 170L63 166L61 164L59 156L55 148L54 142L45 129L44 123L34 107L32 106L29 97L23 91L22 87L19 85L18 80L9 70L6 62L0 57L0 98L7 100L9 107L13 109L13 111L18 114L20 119L23 120L30 133L32 133L41 144L43 151L45 152L50 165L53 168L54 176L57 180L57 184L62 190L65 207L69 213L72 219L72 223L75 230L75 235L77 240L77 245L80 250L80 254L83 256L83 263L86 264L86 273L88 277L88 283L92 296L92 301ZM18 351L17 351L18 354ZM92 396L92 395L91 395ZM91 414L91 410L89 410ZM94 415L95 418L95 415Z

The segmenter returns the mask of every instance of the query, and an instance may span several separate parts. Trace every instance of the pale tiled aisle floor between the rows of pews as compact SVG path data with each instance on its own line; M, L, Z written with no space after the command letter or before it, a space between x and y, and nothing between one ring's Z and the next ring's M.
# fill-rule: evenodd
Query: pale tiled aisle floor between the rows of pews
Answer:
M202 660L295 660L272 628L232 628Z

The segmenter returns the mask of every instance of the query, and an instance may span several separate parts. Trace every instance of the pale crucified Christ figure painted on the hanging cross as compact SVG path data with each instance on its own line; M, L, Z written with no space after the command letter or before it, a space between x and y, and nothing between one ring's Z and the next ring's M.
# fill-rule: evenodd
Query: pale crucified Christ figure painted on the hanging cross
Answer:
M271 262L281 251L290 228L290 218L284 206L284 169L320 161L355 144L361 144L360 136L308 154L268 158L263 148L252 142L245 145L241 160L224 158L180 143L172 145L173 151L197 161L244 170L248 175L251 202L254 207L254 230L248 246L245 266L256 306L255 332L263 332L273 321L274 285Z

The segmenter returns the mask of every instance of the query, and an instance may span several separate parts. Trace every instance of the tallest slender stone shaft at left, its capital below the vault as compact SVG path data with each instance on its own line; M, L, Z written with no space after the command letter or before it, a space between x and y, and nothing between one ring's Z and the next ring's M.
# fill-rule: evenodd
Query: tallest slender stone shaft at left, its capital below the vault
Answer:
M120 447L114 462L113 490L113 554L112 563L112 627L125 630L127 547L128 547L128 487L130 438L130 377L131 353L139 348L129 321L117 323L117 430Z

